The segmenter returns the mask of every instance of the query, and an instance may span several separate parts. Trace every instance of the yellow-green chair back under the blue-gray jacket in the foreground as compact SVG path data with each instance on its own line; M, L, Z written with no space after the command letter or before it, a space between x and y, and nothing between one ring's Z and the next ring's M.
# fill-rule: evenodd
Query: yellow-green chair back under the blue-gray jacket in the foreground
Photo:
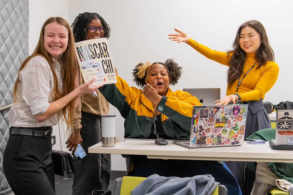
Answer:
M131 195L131 190L145 179L146 177L117 177L113 183L112 195ZM219 185L212 195L227 195L227 193L227 188L224 185Z

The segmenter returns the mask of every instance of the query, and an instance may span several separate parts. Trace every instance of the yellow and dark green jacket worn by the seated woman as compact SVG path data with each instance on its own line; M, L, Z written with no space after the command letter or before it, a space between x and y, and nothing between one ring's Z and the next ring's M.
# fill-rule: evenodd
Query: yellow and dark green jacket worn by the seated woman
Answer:
M103 96L115 106L125 118L125 138L147 139L151 134L154 120L154 110L151 101L143 94L142 89L129 87L117 76L117 83L106 84L99 88ZM198 99L177 90L168 89L156 110L160 111L162 127L165 133L173 139L189 139L193 106L201 105Z

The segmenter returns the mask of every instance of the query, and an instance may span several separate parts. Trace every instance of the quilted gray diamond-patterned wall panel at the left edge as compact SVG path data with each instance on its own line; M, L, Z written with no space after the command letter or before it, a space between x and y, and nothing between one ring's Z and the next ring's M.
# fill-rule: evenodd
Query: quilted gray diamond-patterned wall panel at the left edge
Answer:
M27 56L28 0L0 0L0 106L12 103L17 72ZM0 194L11 190L2 163L9 137L8 112L0 114Z

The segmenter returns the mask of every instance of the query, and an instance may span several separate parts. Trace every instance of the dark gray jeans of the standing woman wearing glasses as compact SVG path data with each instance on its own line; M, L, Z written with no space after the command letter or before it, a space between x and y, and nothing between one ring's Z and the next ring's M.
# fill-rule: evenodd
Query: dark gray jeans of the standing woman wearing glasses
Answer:
M93 190L108 190L111 177L111 155L88 153L88 147L101 141L101 117L81 111L80 135L86 157L74 157L72 195L88 195Z

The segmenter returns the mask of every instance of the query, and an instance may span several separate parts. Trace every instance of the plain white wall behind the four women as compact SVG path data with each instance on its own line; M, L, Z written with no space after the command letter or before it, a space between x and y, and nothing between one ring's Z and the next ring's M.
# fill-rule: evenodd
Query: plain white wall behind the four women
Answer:
M165 61L175 58L183 67L181 80L172 90L183 88L221 88L221 97L226 95L227 67L211 61L185 43L168 39L173 28L183 30L196 41L212 49L231 49L237 28L248 20L259 20L267 30L275 52L275 61L280 67L279 77L264 101L274 104L293 101L291 46L293 17L290 0L272 1L30 1L30 53L35 47L39 30L46 18L61 15L71 24L79 13L97 12L111 27L108 39L113 62L130 85L132 69L139 62ZM68 4L67 4L68 3ZM35 10L33 10L35 9ZM64 10L63 10L64 9ZM46 11L47 10L47 11ZM65 11L66 10L66 11ZM43 18L43 19L42 19ZM33 30L35 29L35 30ZM36 35L32 31L37 31ZM35 42L32 42L35 39ZM116 114L116 137L123 137L123 118L113 106L109 114ZM120 155L113 156L112 170L126 170Z

